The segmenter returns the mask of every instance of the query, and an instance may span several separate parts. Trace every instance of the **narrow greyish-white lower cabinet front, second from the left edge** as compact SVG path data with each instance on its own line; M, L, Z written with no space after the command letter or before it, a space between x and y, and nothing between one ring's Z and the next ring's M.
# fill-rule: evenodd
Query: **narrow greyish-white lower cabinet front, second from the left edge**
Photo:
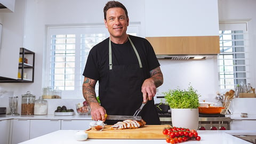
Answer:
M12 119L12 144L29 140L29 119Z

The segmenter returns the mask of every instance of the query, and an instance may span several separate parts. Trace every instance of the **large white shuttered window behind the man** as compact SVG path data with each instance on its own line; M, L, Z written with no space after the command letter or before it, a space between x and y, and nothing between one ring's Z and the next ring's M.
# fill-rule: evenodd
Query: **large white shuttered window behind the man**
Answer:
M139 30L140 24L135 23L127 33L137 35ZM94 45L109 36L105 25L48 27L47 33L44 87L58 87L62 98L82 98L87 56ZM95 90L98 93L98 86Z

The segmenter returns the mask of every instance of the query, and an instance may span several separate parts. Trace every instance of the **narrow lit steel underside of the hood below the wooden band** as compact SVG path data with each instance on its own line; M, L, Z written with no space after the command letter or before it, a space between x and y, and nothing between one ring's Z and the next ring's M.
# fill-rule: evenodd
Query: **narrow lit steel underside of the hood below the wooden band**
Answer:
M157 59L169 60L206 60L217 59L217 54L214 55L156 55Z

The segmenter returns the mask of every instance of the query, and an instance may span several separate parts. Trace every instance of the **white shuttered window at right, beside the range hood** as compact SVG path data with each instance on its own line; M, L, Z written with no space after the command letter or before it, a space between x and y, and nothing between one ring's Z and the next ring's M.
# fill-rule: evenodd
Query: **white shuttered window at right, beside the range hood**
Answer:
M220 24L218 55L220 89L235 89L235 85L246 84L249 79L246 24Z

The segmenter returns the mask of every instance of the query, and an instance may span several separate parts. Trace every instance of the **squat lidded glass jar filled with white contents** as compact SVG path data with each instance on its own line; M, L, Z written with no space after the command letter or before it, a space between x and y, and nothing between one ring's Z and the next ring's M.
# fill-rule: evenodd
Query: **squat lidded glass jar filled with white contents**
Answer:
M43 97L35 100L34 115L47 115L48 102Z

